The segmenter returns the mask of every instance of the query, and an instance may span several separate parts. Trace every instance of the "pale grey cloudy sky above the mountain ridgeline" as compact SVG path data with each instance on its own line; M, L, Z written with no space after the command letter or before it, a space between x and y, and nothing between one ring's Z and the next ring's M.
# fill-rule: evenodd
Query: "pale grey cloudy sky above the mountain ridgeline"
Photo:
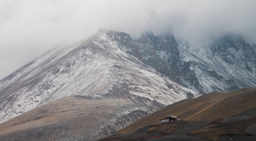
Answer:
M0 79L99 28L208 41L236 32L256 41L256 0L1 0Z

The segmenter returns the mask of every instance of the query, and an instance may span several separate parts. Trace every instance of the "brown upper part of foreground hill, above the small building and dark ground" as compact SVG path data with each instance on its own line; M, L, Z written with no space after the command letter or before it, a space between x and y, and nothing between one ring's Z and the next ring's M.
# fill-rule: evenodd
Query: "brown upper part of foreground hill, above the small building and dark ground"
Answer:
M160 125L159 119L163 116L172 115L185 121L206 121L231 117L254 108L256 108L256 88L213 92L168 105L135 121L116 134L136 132L138 128L147 125Z

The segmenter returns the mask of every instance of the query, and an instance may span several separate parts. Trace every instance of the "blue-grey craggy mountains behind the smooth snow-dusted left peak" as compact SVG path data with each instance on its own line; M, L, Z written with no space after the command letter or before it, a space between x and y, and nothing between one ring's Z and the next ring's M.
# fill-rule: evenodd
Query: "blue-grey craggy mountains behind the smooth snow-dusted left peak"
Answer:
M201 94L256 87L256 45L239 34L224 34L210 44L174 38L173 33L144 32L136 40L126 33L107 34L122 51Z

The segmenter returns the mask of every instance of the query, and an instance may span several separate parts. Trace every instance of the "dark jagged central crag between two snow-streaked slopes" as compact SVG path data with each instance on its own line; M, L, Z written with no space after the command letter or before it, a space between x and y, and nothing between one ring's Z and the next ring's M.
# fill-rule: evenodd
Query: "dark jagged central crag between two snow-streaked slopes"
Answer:
M145 32L138 40L126 33L108 31L107 34L120 43L122 51L132 54L145 65L184 87L203 92L195 72L187 67L189 64L182 64L172 33L154 36L152 32Z

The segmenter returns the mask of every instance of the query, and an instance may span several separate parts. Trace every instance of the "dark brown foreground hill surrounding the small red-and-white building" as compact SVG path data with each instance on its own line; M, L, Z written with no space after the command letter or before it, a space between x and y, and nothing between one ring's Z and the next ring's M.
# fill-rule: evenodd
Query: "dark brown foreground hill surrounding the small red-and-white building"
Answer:
M163 116L180 121L160 123ZM213 92L157 110L115 133L116 141L252 141L256 139L256 88ZM242 136L219 136L219 134ZM245 136L251 134L251 136ZM156 138L150 138L156 137ZM113 135L99 141L113 140Z

